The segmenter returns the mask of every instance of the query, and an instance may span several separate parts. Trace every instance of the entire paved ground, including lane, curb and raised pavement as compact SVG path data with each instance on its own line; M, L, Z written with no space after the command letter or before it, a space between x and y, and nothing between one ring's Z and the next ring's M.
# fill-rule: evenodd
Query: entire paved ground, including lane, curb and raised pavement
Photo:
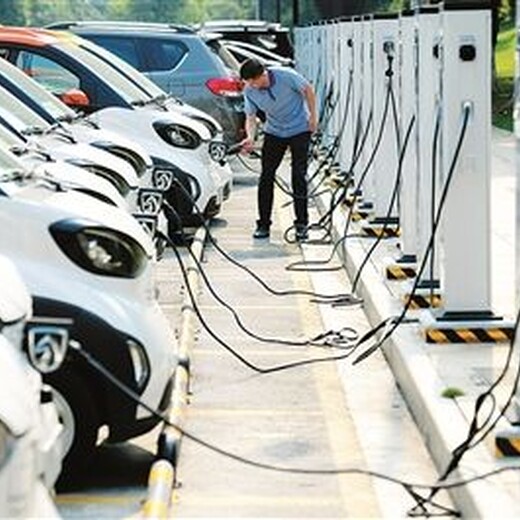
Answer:
M493 310L506 321L515 313L514 152L511 136L495 132ZM330 245L314 243L318 232L312 231L311 241L301 247L283 240L292 216L281 193L271 239L251 239L255 183L255 173L241 167L231 200L211 227L218 244L277 290L349 293L345 270L315 269L331 257ZM325 198L320 197L319 207L325 207ZM317 208L311 213L317 221ZM338 212L336 217L340 234L344 214ZM352 277L373 239L348 240L345 260ZM399 256L398 243L398 239L387 239L372 256L354 295L363 300L362 305L334 307L302 295L275 297L225 261L211 244L205 249L203 265L221 297L257 335L303 340L342 327L352 327L362 335L402 309L403 283L387 281L383 274L388 263ZM186 257L186 251L183 255ZM327 265L338 265L336 260ZM288 270L294 262L304 270ZM161 302L180 331L179 310L186 294L170 252L161 265L159 282ZM427 345L420 323L408 323L397 329L384 349L353 365L348 350L253 340L236 326L207 287L201 284L197 296L202 315L219 339L197 326L190 356L190 403L183 422L188 431L249 461L284 468L357 468L385 478L367 478L357 472L329 476L282 473L232 460L184 439L170 511L173 517L405 517L416 502L402 485L386 477L435 483L452 450L467 437L475 399L490 387L508 353L507 345ZM409 317L420 318L424 312L413 311ZM316 356L347 357L259 374L230 349L263 368ZM517 352L514 360L518 361ZM513 376L511 370L495 391L498 408L511 392ZM463 395L446 399L441 394L447 387L456 387ZM480 422L490 409L490 401L485 404ZM495 458L494 434L499 427L464 454L455 480L517 464ZM132 443L101 450L91 483L78 493L58 497L61 514L65 518L137 517L146 496L146 473L157 434L154 431ZM518 475L508 471L454 488L451 496L441 492L435 498L467 518L519 517ZM413 491L423 493L418 487ZM430 506L428 511L437 512Z

